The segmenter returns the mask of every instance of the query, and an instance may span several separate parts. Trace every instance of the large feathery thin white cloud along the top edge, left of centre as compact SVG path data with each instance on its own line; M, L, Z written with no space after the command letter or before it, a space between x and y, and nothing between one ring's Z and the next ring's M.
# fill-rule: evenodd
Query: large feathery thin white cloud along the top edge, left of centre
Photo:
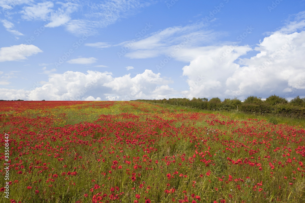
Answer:
M12 0L6 0L12 1ZM16 0L29 3L30 0ZM66 30L74 35L97 34L97 29L104 28L117 20L134 15L137 10L151 5L152 0L106 0L102 2L56 2L46 1L23 7L20 12L25 20L48 21L46 27L66 26ZM2 3L9 7L9 3ZM0 3L0 5L2 5ZM21 4L21 3L20 3ZM72 14L81 9L82 15Z

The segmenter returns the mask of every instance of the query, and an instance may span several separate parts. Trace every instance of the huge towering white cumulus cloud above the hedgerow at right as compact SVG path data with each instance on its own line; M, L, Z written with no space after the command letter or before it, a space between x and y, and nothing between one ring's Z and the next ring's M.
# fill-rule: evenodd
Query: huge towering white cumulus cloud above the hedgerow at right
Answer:
M183 68L190 87L185 95L222 99L234 96L244 99L249 95L266 98L271 94L291 97L297 92L301 95L305 89L305 23L302 13L297 16L296 21L270 33L254 49L202 48L200 55ZM259 53L241 59L251 50Z

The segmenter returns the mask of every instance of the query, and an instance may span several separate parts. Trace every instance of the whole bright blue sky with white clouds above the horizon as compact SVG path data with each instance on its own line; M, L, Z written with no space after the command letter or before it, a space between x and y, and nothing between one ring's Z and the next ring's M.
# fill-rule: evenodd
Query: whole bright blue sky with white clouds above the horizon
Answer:
M305 97L304 0L0 7L0 99Z

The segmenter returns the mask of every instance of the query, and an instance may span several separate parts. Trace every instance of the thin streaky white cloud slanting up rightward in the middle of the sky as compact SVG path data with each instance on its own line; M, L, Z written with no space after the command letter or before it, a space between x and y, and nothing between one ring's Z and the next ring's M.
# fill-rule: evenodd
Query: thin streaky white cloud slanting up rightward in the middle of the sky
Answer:
M169 27L164 30L152 33L150 36L136 42L127 41L121 43L124 47L129 46L130 51L125 54L128 58L153 58L160 55L171 55L176 60L189 62L196 58L190 57L188 48L208 45L224 33L216 33L211 30L204 30L203 23L196 23L187 26ZM184 52L184 54L180 54ZM185 57L188 54L188 57ZM182 56L182 57L181 57ZM198 54L196 54L198 56Z

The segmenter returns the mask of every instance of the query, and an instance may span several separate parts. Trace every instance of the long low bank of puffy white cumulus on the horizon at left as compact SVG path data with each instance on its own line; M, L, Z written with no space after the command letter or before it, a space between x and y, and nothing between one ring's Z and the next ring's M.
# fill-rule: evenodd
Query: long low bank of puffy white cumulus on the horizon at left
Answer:
M0 89L5 100L132 100L160 99L176 93L167 84L170 80L160 73L145 70L135 77L123 75L113 77L111 72L87 71L87 73L67 71L49 75L48 81L25 91Z

